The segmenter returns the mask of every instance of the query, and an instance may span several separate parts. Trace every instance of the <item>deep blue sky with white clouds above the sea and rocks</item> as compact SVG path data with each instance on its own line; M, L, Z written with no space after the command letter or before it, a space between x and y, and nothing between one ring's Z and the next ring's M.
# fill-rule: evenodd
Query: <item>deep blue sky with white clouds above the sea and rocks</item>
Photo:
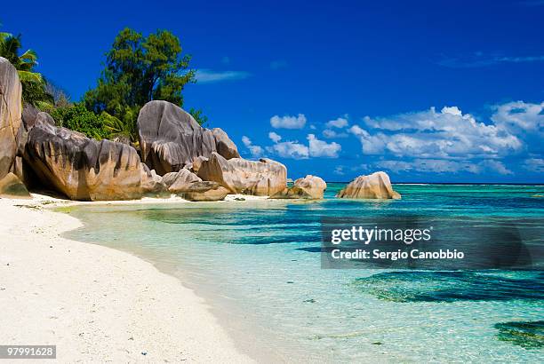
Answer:
M22 16L21 14L24 14ZM347 181L544 182L544 1L8 2L72 99L124 27L180 36L201 107L246 158Z

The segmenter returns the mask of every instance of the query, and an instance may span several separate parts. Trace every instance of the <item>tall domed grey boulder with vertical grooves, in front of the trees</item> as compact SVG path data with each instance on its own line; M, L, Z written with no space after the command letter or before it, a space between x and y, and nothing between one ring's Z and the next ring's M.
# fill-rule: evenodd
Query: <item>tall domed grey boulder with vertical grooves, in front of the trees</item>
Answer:
M142 162L161 176L213 152L227 159L240 156L225 131L201 127L193 116L167 101L150 101L141 108L138 135Z

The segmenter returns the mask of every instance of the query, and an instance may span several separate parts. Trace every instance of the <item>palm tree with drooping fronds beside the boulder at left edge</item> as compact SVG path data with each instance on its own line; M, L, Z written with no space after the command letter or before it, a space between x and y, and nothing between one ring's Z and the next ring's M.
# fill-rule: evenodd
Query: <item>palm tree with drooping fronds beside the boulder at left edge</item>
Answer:
M9 60L17 69L23 88L22 99L33 105L38 101L51 102L51 95L45 91L44 77L33 71L37 65L36 52L28 50L19 55L20 47L20 35L0 32L0 57Z

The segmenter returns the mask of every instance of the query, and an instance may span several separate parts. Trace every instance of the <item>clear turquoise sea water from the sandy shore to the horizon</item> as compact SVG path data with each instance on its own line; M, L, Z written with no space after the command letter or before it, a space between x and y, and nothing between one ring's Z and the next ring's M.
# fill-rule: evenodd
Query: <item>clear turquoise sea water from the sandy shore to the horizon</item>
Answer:
M284 360L538 362L544 274L322 269L321 218L512 221L544 244L543 186L396 185L400 201L82 206L68 233L132 251L212 302L240 347ZM522 235L524 233L522 232ZM524 235L525 236L525 235ZM182 329L182 328L180 328Z

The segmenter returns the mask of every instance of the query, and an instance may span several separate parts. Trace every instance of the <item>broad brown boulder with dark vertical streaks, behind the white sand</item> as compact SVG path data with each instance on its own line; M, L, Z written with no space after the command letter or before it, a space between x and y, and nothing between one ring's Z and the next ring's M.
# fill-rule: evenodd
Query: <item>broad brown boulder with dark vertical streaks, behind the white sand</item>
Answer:
M53 126L47 119L36 120L28 132L25 151L25 161L42 183L71 200L141 197L142 167L136 149L86 138L76 131Z

